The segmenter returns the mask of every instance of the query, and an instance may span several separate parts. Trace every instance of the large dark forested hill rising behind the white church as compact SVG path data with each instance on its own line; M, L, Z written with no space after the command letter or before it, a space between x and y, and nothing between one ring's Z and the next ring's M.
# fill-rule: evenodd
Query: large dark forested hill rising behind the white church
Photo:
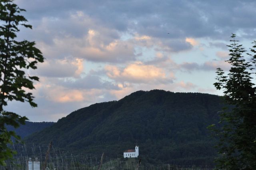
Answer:
M122 157L140 146L144 162L212 165L214 139L206 127L218 122L219 96L138 91L119 101L96 103L61 118L27 141Z

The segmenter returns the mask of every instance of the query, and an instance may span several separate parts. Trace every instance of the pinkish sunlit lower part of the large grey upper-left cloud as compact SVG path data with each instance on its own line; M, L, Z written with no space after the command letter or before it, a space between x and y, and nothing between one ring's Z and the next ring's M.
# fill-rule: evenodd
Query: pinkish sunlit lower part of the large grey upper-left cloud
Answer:
M104 33L88 30L87 34L76 38L56 37L52 44L38 43L47 58L72 56L94 62L125 62L135 60L134 44L118 39L105 40Z

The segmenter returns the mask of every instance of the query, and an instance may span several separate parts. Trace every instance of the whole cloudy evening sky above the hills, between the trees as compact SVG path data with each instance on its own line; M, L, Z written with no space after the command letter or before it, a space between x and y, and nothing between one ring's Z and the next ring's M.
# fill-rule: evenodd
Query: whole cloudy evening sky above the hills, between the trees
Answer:
M56 122L94 103L138 90L201 92L228 71L230 36L248 50L256 35L255 0L14 0L45 61L35 82L37 108L9 102L30 121Z

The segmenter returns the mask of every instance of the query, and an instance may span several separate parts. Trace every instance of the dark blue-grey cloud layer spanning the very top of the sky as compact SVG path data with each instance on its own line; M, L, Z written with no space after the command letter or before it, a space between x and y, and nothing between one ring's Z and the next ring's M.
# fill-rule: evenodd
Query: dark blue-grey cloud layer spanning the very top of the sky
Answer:
M65 19L77 10L98 20L101 26L120 32L134 30L158 38L226 38L238 30L255 35L256 2L241 0L18 0L32 20ZM61 27L56 23L56 27ZM70 24L72 27L72 24ZM74 32L79 28L73 27ZM226 39L227 40L227 39Z

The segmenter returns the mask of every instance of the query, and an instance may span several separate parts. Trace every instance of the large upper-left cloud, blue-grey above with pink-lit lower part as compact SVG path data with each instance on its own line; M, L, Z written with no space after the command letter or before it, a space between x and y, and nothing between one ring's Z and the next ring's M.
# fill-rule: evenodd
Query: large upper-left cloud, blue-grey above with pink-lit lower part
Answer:
M118 30L102 26L97 18L82 11L69 11L62 17L43 16L36 20L33 32L22 30L19 37L36 40L45 58L73 57L94 62L135 60L135 45L121 40Z

